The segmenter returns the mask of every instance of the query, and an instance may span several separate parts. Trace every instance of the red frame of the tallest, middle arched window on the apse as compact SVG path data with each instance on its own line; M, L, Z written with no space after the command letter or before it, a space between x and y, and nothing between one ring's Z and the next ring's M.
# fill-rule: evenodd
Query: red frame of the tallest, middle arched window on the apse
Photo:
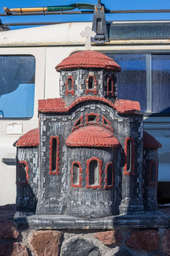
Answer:
M99 184L98 185L95 185L95 186L92 186L92 185L89 185L89 164L90 164L90 161L92 160L96 160L98 163L99 163ZM102 183L102 160L98 159L97 157L91 157L90 159L88 159L86 161L86 165L87 165L87 168L86 168L86 188L92 188L92 189L96 189L96 188L99 188L101 189L102 186L101 186L101 183Z

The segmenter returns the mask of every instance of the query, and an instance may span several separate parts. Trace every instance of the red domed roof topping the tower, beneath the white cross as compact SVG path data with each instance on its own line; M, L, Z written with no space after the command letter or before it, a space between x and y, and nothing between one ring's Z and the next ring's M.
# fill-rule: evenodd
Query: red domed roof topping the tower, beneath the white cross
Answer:
M105 54L97 51L79 51L62 60L55 69L57 71L72 69L111 69L117 72L121 67Z

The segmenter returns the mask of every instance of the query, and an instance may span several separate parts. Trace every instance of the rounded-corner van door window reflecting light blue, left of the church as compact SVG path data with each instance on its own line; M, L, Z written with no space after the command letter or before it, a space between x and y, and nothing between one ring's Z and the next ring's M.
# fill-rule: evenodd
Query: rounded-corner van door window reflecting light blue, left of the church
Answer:
M0 118L34 113L35 57L0 55Z

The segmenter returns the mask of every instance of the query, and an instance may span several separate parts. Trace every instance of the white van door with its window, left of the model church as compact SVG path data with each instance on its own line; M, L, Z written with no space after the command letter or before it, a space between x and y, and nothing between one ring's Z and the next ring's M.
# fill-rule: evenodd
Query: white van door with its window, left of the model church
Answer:
M44 99L46 47L0 48L0 205L15 203L16 148L22 134L38 126Z

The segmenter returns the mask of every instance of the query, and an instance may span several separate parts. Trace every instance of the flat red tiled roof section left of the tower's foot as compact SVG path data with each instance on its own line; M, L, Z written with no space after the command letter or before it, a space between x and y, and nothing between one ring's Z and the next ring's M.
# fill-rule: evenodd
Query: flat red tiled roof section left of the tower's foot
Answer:
M61 98L38 100L38 111L41 112L65 112L67 106Z

